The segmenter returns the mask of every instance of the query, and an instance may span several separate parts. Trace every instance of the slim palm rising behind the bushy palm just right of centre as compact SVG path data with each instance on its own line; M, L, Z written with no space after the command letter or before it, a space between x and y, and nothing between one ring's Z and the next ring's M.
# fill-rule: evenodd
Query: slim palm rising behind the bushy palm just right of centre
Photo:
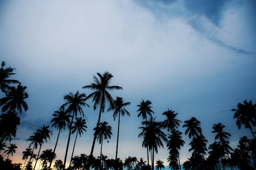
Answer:
M146 102L144 102L144 100L142 99L142 102L140 102L139 105L137 105L139 107L139 109L137 110L137 112L139 112L138 117L142 117L142 119L145 119L147 122L147 115L149 115L149 117L151 118L152 115L151 113L154 113L153 110L151 110L151 106L150 104L152 104L149 100L147 100ZM146 129L147 129L147 123L146 123ZM147 147L147 156L148 156L148 146ZM149 158L148 158L148 166L149 166Z

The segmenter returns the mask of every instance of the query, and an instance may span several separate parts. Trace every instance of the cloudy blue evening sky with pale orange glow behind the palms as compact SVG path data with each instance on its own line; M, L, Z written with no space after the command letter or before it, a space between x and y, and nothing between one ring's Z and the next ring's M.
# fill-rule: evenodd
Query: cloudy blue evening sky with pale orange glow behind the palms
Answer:
M213 143L213 124L222 123L236 148L239 137L249 138L248 129L238 130L234 113L238 103L256 103L256 1L254 0L107 0L107 1L7 1L0 2L0 60L16 68L12 79L27 86L29 109L22 111L20 125L11 143L18 146L10 159L24 163L26 141L43 125L51 126L52 114L65 103L66 94L92 93L83 86L93 75L105 71L114 76L113 99L131 102L121 117L118 157L146 160L138 138L142 99L152 102L153 117L163 121L168 109L178 113L182 139L181 163L191 156L183 122L195 117L202 134ZM1 93L0 97L4 97ZM92 100L84 107L87 132L76 141L74 155L90 155L93 128L99 109ZM106 105L108 108L108 104ZM107 110L107 109L106 109ZM103 142L103 155L115 158L117 121L105 111L101 121L112 126L112 137ZM54 148L58 130L41 150ZM255 130L255 128L254 128ZM56 159L64 161L68 130L61 133ZM74 144L72 135L67 161ZM8 143L8 141L7 141ZM0 153L5 158L5 153ZM100 155L97 142L94 156ZM155 161L168 166L168 151L159 148Z

